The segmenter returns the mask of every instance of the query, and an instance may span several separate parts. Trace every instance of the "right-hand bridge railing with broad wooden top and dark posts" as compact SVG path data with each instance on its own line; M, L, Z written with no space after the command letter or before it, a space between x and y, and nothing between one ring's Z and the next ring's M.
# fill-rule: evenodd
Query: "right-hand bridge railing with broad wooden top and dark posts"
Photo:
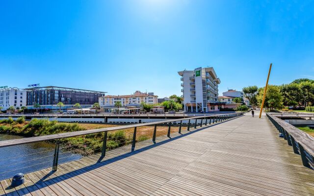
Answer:
M292 146L293 152L301 155L303 166L314 170L314 138L274 115L266 113L266 116Z

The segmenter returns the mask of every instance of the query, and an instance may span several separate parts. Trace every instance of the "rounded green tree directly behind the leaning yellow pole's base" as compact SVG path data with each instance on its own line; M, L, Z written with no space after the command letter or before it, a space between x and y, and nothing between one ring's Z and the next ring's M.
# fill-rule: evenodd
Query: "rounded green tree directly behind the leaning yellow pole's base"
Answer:
M257 96L258 102L262 105L264 95L264 88L260 88L259 95ZM268 85L264 107L270 110L283 108L283 96L280 93L280 87L276 85Z

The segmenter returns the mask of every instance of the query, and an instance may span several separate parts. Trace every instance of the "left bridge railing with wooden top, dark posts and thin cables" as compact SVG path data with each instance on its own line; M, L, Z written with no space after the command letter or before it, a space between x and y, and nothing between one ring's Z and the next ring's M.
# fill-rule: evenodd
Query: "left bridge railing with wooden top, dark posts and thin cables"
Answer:
M186 126L187 127L187 131L190 131L190 127L194 127L195 129L197 128L197 126L202 127L203 125L207 126L208 124L211 123L218 123L218 122L223 122L226 120L230 120L239 116L242 116L243 113L232 113L232 114L221 114L221 115L211 115L211 116L207 116L206 114L201 115L201 116L195 116L195 117L190 117L190 118L182 118L182 119L174 119L174 120L166 120L166 121L159 121L159 122L152 122L152 123L139 123L139 124L130 124L130 125L123 125L123 126L116 126L116 127L108 127L108 128L100 128L100 129L92 129L92 130L83 130L83 131L75 131L75 132L65 132L65 133L58 133L58 134L52 134L52 135L45 135L45 136L37 136L37 137L30 137L30 138L21 138L21 139L14 139L14 140L6 140L6 141L0 141L0 148L2 149L3 147L12 147L12 146L17 146L17 145L24 145L24 144L30 144L30 143L36 143L36 142L44 142L44 141L55 141L55 147L54 150L49 150L49 151L54 151L53 156L51 155L47 155L47 157L40 157L40 158L34 158L31 157L29 160L27 161L33 161L33 160L37 160L35 165L39 165L39 164L43 164L43 163L47 163L50 162L48 159L49 157L53 157L52 160L52 171L56 171L57 170L57 166L58 166L58 161L60 159L65 159L65 158L69 158L70 156L64 156L59 158L60 154L64 154L65 152L60 152L60 140L61 139L65 139L65 138L71 138L71 137L76 137L76 136L86 136L86 135L90 135L90 134L99 134L99 133L104 133L104 138L101 141L102 147L97 148L97 150L99 150L99 152L101 152L101 158L105 157L105 153L106 153L106 148L107 146L107 140L112 139L112 138L107 138L108 136L108 132L110 131L116 131L116 130L122 130L122 129L130 129L130 128L134 128L133 133L129 135L129 140L127 142L125 142L124 146L127 146L128 144L131 144L131 151L134 151L135 149L135 143L137 141L136 139L136 131L137 131L137 127L141 127L141 126L154 126L154 132L153 132L153 137L152 137L152 141L154 143L156 143L156 133L157 133L157 125L160 124L162 126L168 126L168 132L167 132L167 136L170 137L170 133L171 133L171 126L178 126L179 125L179 131L178 133L181 134L182 131L182 127ZM180 122L180 123L178 123ZM185 123L184 123L185 122ZM170 138L171 139L171 138ZM95 142L95 141L93 141ZM91 142L90 142L91 143ZM85 145L84 144L78 144L78 145ZM74 145L76 146L76 145ZM71 147L74 147L71 146ZM34 154L37 154L40 152L36 152ZM30 154L31 156L33 156L33 154ZM28 156L26 155L22 155L22 156ZM16 157L11 157L13 160L16 159ZM45 158L43 159L43 163L39 162L41 160L41 158ZM9 162L9 158L7 158L6 164L10 164ZM20 164L20 163L14 163L14 164ZM35 166L32 165L32 166ZM27 166L30 167L30 166ZM25 168L25 167L24 167ZM47 167L46 167L47 168ZM18 170L18 169L16 169ZM14 170L15 171L15 170ZM5 172L12 172L12 171L5 171ZM4 173L5 173L4 172ZM28 171L31 172L31 171ZM1 174L1 173L0 173Z

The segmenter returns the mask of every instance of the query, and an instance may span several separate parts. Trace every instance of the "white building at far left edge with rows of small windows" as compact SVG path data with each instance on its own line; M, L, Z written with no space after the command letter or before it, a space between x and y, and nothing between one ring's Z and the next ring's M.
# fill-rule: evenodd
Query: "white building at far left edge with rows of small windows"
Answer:
M0 89L0 107L2 110L8 109L10 106L15 108L26 106L26 90L14 88Z

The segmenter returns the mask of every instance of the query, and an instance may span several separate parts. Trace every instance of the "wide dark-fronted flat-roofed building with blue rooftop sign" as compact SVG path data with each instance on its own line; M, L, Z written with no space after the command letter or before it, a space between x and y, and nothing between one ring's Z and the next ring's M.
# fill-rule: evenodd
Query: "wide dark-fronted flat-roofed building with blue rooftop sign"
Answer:
M73 107L79 103L82 107L91 107L98 102L98 98L106 92L73 89L57 86L27 88L26 104L29 108L39 103L45 109L59 109L56 104L62 102L65 106L61 109Z

